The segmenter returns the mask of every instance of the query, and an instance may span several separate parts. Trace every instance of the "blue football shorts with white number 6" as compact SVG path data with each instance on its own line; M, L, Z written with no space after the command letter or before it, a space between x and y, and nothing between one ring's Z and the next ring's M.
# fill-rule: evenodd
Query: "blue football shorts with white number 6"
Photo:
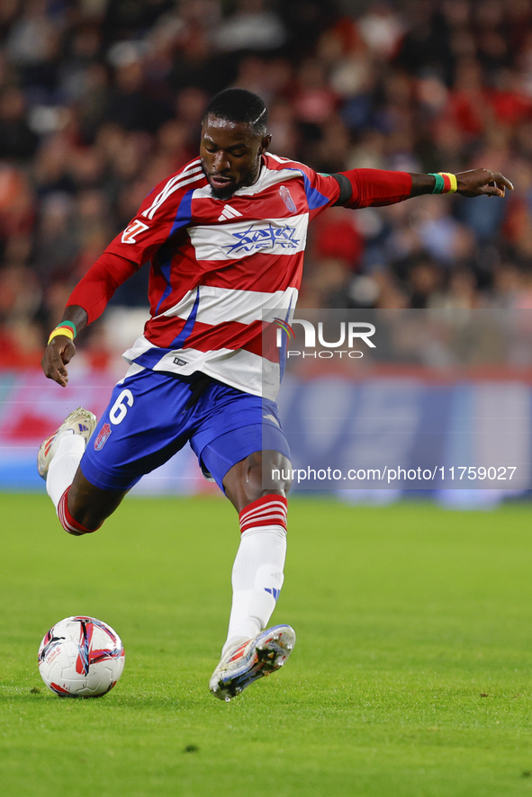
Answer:
M203 473L222 479L257 451L291 458L275 401L203 374L141 371L119 382L80 466L95 487L128 490L190 443Z

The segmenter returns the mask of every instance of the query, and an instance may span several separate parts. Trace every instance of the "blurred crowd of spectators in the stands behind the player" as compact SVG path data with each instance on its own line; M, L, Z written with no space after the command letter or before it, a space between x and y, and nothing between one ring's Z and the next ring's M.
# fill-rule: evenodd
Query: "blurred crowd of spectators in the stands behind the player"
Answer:
M319 171L487 166L515 184L328 210L302 307L532 308L532 0L2 0L0 39L0 367L40 361L231 85L268 103L273 152ZM146 271L115 326L84 334L93 364L122 345L118 310L145 312Z

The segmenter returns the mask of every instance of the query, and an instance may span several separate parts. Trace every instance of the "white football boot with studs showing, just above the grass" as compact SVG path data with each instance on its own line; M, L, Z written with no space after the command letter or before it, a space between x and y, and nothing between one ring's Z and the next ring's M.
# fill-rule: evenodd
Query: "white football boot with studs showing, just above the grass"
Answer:
M252 640L228 650L212 673L209 689L229 703L231 697L283 667L295 645L295 631L290 625L274 625Z

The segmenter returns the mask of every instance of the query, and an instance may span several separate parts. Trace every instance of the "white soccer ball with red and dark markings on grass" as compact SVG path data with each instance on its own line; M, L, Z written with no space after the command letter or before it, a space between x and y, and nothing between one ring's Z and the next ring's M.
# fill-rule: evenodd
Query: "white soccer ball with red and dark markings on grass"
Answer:
M61 697L100 697L116 684L125 661L122 641L94 617L67 617L46 633L39 648L39 672Z

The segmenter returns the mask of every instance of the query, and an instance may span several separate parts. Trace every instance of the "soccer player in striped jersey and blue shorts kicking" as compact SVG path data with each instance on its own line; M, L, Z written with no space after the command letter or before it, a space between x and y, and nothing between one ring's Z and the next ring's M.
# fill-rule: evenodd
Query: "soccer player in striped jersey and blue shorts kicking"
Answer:
M149 193L77 284L42 358L46 376L66 387L74 337L150 262L150 318L124 354L129 371L99 422L79 408L42 443L38 468L63 528L86 534L143 474L190 443L239 512L229 631L210 682L225 700L283 665L295 642L290 626L267 628L283 585L290 484L266 488L262 476L288 473L291 463L275 404L280 366L263 349L262 329L265 309L270 320L293 314L309 221L331 205L426 193L501 197L513 187L487 169L320 175L270 154L270 139L260 97L217 94L200 157Z

